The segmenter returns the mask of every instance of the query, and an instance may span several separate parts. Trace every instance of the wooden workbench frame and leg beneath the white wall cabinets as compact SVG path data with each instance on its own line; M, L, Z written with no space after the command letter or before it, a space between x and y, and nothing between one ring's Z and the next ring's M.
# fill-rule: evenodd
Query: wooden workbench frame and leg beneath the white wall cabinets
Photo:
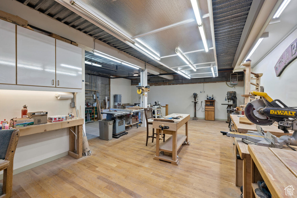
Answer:
M83 156L83 118L71 119L62 122L48 122L45 124L38 124L33 126L27 126L24 128L18 128L20 130L20 136L31 135L36 133L43 133L48 131L53 131L57 129L63 129L69 127L69 151L68 155L79 159ZM75 135L70 131L70 128L75 132L75 127L77 128L77 153L74 153L75 146Z

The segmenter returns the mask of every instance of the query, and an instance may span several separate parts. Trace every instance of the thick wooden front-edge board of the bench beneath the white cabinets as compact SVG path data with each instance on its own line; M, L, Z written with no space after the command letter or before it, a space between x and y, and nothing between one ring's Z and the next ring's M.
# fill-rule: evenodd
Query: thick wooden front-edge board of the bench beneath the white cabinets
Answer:
M20 136L25 136L25 135L31 135L31 134L42 133L47 131L53 131L56 129L68 128L71 126L77 126L83 123L84 123L84 119L78 118L78 119L71 119L71 120L66 120L62 122L54 122L54 123L48 122L46 124L27 126L27 127L18 128L18 129L20 130Z

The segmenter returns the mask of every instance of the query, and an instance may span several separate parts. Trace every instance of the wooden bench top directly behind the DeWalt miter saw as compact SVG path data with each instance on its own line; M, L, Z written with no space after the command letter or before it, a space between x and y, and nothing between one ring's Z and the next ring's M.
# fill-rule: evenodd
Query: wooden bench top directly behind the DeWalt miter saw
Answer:
M239 123L239 118L244 117L244 115L230 115L232 121L232 130L237 133L247 133L247 131L257 131L256 125L252 124L241 124ZM277 126L261 126L264 132L270 132L271 134L275 135L276 137L281 137L282 135L293 135L293 133L284 133L281 129L278 129Z

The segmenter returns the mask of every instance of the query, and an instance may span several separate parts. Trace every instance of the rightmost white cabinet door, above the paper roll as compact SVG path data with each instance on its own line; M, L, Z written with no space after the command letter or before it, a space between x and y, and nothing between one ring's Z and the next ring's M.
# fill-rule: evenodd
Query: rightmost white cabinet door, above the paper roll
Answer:
M56 40L56 87L82 88L82 48Z

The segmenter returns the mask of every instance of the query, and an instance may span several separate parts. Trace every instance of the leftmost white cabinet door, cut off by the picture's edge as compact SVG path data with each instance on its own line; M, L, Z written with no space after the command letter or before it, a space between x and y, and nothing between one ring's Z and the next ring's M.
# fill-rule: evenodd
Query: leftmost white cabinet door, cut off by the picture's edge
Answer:
M0 83L15 84L15 24L0 19Z

